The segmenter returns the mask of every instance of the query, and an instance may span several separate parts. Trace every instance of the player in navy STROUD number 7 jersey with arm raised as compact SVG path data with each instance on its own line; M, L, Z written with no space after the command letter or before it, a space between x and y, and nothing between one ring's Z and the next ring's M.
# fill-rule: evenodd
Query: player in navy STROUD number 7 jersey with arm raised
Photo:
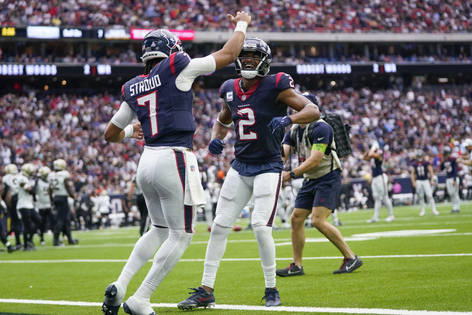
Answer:
M141 57L145 72L121 88L123 102L104 137L110 142L145 139L137 183L152 227L136 243L118 280L106 288L105 315L118 314L131 278L154 253L146 279L123 308L132 315L155 314L150 296L192 240L196 207L206 201L197 158L191 152L195 133L191 87L197 76L233 63L239 55L251 17L244 12L228 17L236 24L235 32L221 50L204 58L191 60L177 35L168 30L149 32ZM128 125L135 118L139 123Z

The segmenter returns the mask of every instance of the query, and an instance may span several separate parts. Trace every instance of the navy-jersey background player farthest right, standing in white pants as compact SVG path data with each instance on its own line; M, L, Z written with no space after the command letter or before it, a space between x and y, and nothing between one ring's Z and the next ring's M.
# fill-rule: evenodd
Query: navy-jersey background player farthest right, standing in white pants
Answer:
M457 176L457 171L458 163L461 162L461 157L452 157L451 148L447 146L442 148L442 155L443 160L441 162L441 170L446 171L446 190L452 202L451 213L459 213L459 177Z

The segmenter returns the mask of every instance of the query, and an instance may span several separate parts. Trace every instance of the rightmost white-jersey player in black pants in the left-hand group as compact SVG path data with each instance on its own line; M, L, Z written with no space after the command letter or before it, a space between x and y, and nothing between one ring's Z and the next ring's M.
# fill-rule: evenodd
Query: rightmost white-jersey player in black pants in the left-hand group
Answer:
M51 186L51 194L58 212L56 225L54 226L54 246L63 245L59 241L59 233L65 234L69 245L75 245L78 243L76 239L72 238L70 234L70 219L71 213L67 197L70 196L76 200L74 192L71 188L70 174L65 170L67 163L62 158L59 158L53 162L54 172L49 173L47 179Z

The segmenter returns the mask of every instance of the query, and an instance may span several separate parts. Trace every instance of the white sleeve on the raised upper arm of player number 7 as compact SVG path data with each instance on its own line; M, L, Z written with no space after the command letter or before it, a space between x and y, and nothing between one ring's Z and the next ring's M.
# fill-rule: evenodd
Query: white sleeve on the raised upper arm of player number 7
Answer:
M177 76L177 89L183 92L189 91L196 77L215 71L215 69L216 62L211 55L204 58L192 59Z

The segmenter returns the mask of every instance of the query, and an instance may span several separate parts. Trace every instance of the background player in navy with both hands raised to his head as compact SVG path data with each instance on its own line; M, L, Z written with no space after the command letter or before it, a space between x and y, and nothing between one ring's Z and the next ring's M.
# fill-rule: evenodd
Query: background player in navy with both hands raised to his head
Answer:
M383 172L383 150L379 148L379 143L374 142L370 150L364 153L364 160L372 160L372 195L374 197L374 216L367 220L367 223L379 221L380 208L382 208L382 201L387 207L388 217L387 222L395 220L393 216L393 205L388 196L388 177Z

